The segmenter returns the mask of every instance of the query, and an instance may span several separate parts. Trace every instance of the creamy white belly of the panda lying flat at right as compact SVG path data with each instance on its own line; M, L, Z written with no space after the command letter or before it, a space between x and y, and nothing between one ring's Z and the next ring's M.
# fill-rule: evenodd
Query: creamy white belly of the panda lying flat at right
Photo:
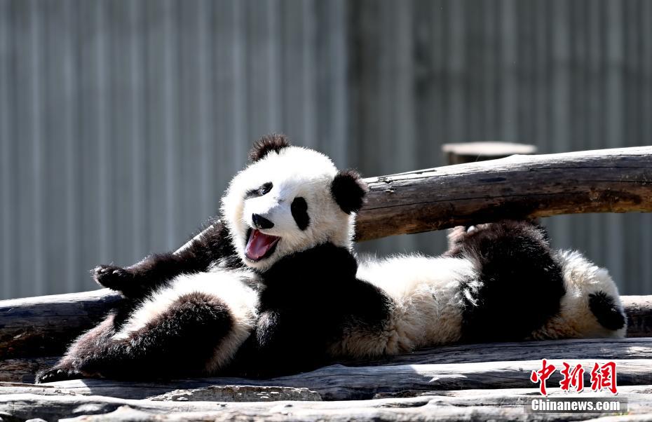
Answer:
M475 278L467 259L411 255L362 261L358 278L386 295L388 316L380 325L345 327L332 355L394 355L461 338L461 284Z

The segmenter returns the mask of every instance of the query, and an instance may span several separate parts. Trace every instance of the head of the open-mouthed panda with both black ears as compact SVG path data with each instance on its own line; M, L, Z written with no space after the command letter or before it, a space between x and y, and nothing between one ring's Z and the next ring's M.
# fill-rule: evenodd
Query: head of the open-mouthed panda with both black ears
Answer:
M222 198L233 247L247 266L265 271L327 242L351 248L367 192L358 173L338 171L324 154L293 147L283 135L263 137L249 157Z

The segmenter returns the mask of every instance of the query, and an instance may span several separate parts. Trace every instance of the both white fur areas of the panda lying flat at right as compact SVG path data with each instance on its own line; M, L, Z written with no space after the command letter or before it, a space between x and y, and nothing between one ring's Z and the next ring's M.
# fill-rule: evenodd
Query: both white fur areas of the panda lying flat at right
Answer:
M531 338L625 336L626 327L606 329L589 308L589 294L601 291L622 308L616 284L606 269L595 266L579 252L556 252L555 260L562 268L566 294L561 299L559 315L533 332ZM343 338L330 348L334 356L393 355L455 343L461 338L463 299L473 303L480 288L471 262L451 257L407 255L368 259L360 262L358 278L380 287L395 308L379 332L369 332L364 327L346 329ZM466 284L463 289L462 282Z

